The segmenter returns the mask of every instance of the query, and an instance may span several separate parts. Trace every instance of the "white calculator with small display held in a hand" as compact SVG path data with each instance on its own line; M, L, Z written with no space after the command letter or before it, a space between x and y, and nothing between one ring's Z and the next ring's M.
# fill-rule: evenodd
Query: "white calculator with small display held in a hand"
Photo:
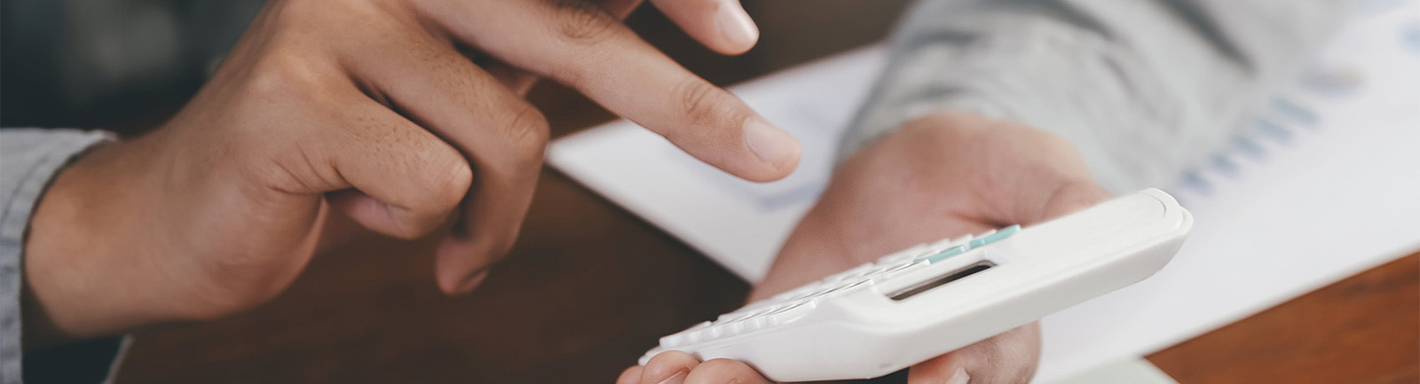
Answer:
M1193 215L1149 188L1038 225L922 244L660 337L775 381L885 375L1139 282Z

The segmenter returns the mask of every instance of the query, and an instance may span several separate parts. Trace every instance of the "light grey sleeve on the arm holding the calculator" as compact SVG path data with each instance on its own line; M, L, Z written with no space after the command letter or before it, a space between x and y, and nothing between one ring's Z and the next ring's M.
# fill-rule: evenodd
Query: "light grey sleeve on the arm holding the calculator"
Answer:
M1169 181L1295 72L1342 1L917 4L841 156L940 109L1021 122L1081 149L1113 191Z

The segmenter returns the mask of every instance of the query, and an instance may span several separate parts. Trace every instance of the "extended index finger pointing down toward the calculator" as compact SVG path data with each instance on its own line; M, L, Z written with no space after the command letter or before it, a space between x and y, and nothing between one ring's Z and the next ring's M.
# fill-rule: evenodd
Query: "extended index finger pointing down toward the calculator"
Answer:
M450 1L450 9L429 14L467 44L577 88L731 174L771 181L798 166L798 140L686 71L601 6L484 1Z

